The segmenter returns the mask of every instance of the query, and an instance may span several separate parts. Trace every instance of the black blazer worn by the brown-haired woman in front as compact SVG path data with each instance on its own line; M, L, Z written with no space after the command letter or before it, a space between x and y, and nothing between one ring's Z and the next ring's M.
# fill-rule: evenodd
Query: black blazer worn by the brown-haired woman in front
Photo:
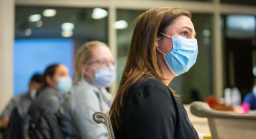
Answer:
M182 103L157 79L131 85L120 116L118 139L198 139Z

